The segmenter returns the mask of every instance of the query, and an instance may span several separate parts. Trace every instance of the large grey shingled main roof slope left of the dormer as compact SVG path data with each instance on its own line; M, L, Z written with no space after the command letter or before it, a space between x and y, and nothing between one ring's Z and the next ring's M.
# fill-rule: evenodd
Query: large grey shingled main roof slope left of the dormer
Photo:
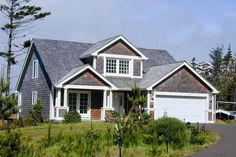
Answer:
M92 45L48 39L33 39L33 43L53 84L74 67L84 65L79 56Z

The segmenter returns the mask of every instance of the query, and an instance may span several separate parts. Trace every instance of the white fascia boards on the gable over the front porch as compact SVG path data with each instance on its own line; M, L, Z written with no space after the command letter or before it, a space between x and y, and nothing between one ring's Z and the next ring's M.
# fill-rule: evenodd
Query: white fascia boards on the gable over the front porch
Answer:
M96 74L98 77L100 77L103 81L105 81L107 84L109 84L111 86L112 89L117 89L116 86L114 86L110 81L108 81L104 76L102 76L101 74L99 74L96 70L94 70L91 66L87 65L85 66L83 69L79 70L78 72L74 73L73 75L71 75L70 77L68 77L67 79L65 79L64 81L58 83L56 85L57 88L63 88L63 84L66 83L67 81L71 80L72 78L74 78L75 76L79 75L80 73L82 73L84 70L89 69L91 70L94 74Z

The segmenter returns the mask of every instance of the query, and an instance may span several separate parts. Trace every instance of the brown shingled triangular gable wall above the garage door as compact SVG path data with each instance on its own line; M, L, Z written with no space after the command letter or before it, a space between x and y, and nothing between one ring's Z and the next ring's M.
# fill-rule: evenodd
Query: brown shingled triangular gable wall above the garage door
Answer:
M153 89L160 92L211 93L210 89L186 68L181 68Z

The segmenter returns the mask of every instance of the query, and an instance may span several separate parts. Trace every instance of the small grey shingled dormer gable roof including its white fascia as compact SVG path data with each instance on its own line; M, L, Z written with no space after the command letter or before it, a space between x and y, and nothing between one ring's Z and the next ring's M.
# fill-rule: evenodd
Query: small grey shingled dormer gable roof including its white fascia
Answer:
M141 59L143 59L143 60L148 59L144 54L142 54L141 51L139 51L139 49L137 49L133 44L131 44L122 35L114 36L114 37L108 38L106 40L95 43L86 52L84 52L80 57L81 58L86 58L86 57L89 57L89 56L97 56L99 52L101 52L102 50L104 50L105 48L109 47L110 45L112 45L113 43L115 43L119 40L122 40L128 46L130 46L137 54L140 55Z

